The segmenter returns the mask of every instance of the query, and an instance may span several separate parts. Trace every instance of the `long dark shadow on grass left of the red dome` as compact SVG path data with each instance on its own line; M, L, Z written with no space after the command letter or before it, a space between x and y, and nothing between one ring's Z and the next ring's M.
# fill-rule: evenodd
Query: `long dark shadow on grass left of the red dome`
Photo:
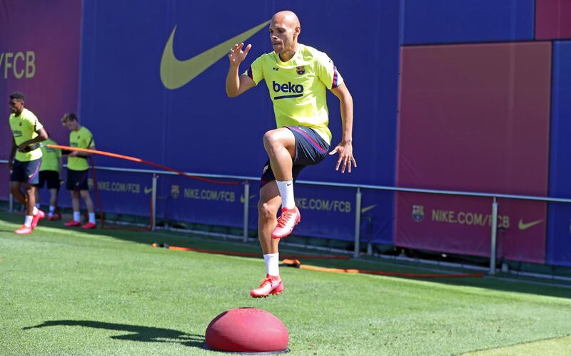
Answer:
M178 342L189 347L200 347L204 345L203 335L183 333L173 329L153 328L148 326L103 323L91 320L50 320L40 325L28 326L23 330L46 328L48 326L84 326L86 328L96 328L105 330L124 331L128 334L111 336L115 340L143 341L143 342Z

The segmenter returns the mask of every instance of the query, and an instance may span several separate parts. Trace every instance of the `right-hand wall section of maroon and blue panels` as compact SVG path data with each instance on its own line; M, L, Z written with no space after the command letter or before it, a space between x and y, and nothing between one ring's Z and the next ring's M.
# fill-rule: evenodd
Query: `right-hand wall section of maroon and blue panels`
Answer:
M459 186L465 186L467 181L478 177L480 186L468 190L571 197L571 176L567 164L571 154L570 141L567 140L571 133L571 46L569 41L565 41L571 38L569 1L402 0L400 9L403 53L415 53L420 59L420 66L407 68L410 58L401 58L400 72L403 76L399 88L396 184L426 187L427 177L434 178L440 174L442 177L426 188L465 190ZM495 48L495 51L487 56L490 48ZM501 58L502 48L511 48L509 56ZM535 53L522 56L520 51L523 48L535 48ZM434 62L433 53L445 51L449 56ZM471 54L465 60L463 56L467 51ZM508 70L497 70L505 64L508 64ZM442 80L435 80L432 85L419 81L418 78L430 78L425 73L437 68L443 75ZM471 78L475 71L477 78ZM534 81L525 83L534 76L537 77ZM447 87L450 80L453 85ZM497 80L500 80L500 85L495 83ZM425 88L419 88L419 83ZM502 88L502 85L507 86ZM423 93L422 90L427 88L430 92ZM482 101L487 93L493 93L492 99ZM460 100L450 103L457 95L460 95ZM409 96L415 99L409 100ZM463 109L457 110L458 102ZM427 106L423 110L418 108L419 105ZM531 110L525 110L526 105L531 105ZM415 112L415 115L408 112ZM475 120L466 120L468 115ZM496 120L482 125L492 115L497 115ZM529 115L532 116L526 117ZM478 116L481 118L477 119ZM453 125L445 123L436 135L434 130L418 130L418 127L405 130L407 126L403 126L407 122L434 125L435 122L445 122L443 117ZM464 126L458 123L461 121L465 122ZM541 125L537 126L538 123ZM530 131L526 134L525 130ZM494 139L497 132L505 134ZM469 150L464 150L465 142L472 142L477 137L480 137L477 142L470 145ZM522 145L522 139L525 139L523 150L533 147L533 152L517 157L522 152L522 149L517 149L517 145ZM403 155L403 148L422 146L415 142L433 142L433 145L425 150L416 147L419 153L416 156L414 150ZM500 147L490 152L490 147L498 145ZM445 147L445 150L438 152L435 147ZM431 151L440 155L430 157ZM463 155L460 161L456 157L459 151ZM408 154L410 152L412 154ZM435 164L415 162L415 157L423 155L430 157ZM454 164L449 164L446 169L435 168L446 166L450 157L456 159ZM475 162L482 162L482 167L475 166ZM485 169L488 165L494 169ZM454 179L467 171L473 171L467 179ZM452 183L443 184L450 177L453 178ZM486 179L497 187L486 189L482 185ZM470 225L465 219L460 219L461 216L485 216L489 214L489 208L477 211L477 199L460 200L457 205L460 207L455 208L456 201L451 198L398 194L395 244L410 248L426 248L432 244L437 246L435 251L489 256L489 226ZM415 205L411 206L412 203ZM474 211L483 215L474 214ZM570 204L500 199L499 213L502 221L498 221L498 258L571 266ZM478 229L482 230L478 233ZM447 234L454 230L457 233L450 239ZM482 238L484 245L467 250L466 246Z

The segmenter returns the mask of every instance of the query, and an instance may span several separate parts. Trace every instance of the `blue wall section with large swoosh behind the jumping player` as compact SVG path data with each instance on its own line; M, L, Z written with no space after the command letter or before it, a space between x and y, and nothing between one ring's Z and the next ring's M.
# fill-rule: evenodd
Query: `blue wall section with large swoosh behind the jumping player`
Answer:
M301 43L328 53L335 61L355 103L353 147L358 169L340 174L335 172L336 158L328 157L318 166L306 168L299 179L393 185L397 0L368 2L366 6L339 0L310 5L307 1L288 1L285 5L280 1L240 1L224 2L223 6L208 1L84 1L79 116L94 132L97 148L185 172L259 177L267 159L263 133L276 127L265 83L241 97L227 98L228 46L203 73L179 88L169 89L161 80L161 58L174 28L173 53L183 61L266 23L282 9L298 14ZM271 51L267 25L244 42L251 43L252 49L241 71L257 56ZM363 56L367 57L366 66ZM331 93L328 107L336 145L341 120L339 100ZM96 164L147 168L105 157L96 157ZM104 210L148 211L148 175L99 175L98 180L104 182L98 184L104 190ZM258 187L258 182L252 182L248 197L253 229L257 228ZM304 221L310 221L300 224L297 234L353 240L355 189L298 184L295 193ZM159 218L242 224L241 186L162 176L158 195ZM363 235L370 241L390 244L393 194L370 192L363 204L368 216Z

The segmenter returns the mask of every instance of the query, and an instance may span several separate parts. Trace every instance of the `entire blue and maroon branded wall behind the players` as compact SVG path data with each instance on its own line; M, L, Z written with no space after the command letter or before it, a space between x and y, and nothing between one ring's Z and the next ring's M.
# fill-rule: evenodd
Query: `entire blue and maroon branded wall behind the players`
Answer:
M47 6L48 3L50 6ZM15 11L15 2L0 0L0 4L0 19L11 19L9 14ZM192 80L187 80L190 78L184 78L184 74L172 70L172 66L166 66L166 72L170 70L169 73L174 75L171 79L180 79L183 83L174 85L176 88L173 88L173 85L165 85L161 80L161 58L175 28L173 55L179 61L193 58L254 28L244 36L245 42L253 45L241 68L246 70L254 58L271 51L266 21L276 11L291 9L299 15L302 23L300 42L328 53L353 95L353 145L359 164L352 174L339 174L334 170L335 159L329 157L317 167L305 169L300 179L453 189L456 186L450 187L450 184L442 182L455 182L454 179L450 179L450 176L447 177L449 180L439 181L438 174L462 173L458 167L441 169L443 172L435 174L430 171L434 170L434 166L431 168L426 160L419 162L418 157L430 155L425 149L434 150L435 147L426 145L430 145L433 140L440 140L439 135L443 135L445 140L439 142L438 147L443 148L444 155L431 157L438 163L438 167L442 166L448 159L446 147L454 150L454 146L450 145L454 142L455 132L462 132L470 140L475 140L475 137L482 139L475 140L475 145L463 145L463 150L455 152L455 159L458 159L460 153L465 156L465 159L460 159L460 163L487 162L486 159L493 159L495 162L490 166L497 167L496 174L500 179L497 182L497 187L500 188L497 189L502 192L571 197L567 184L571 172L566 164L571 153L569 140L566 140L571 133L567 122L571 115L570 100L567 99L571 95L571 22L567 20L569 5L564 1L335 0L310 3L288 1L286 4L282 1L241 1L239 4L224 2L221 6L206 1L84 0L78 6L78 1L54 0L26 4L35 5L26 8L30 14L34 11L43 14L41 23L50 23L49 19L53 16L49 9L56 12L71 9L66 16L76 21L71 27L64 26L61 21L52 21L51 26L46 24L42 25L45 28L37 28L36 35L22 32L21 36L27 41L26 48L17 46L19 41L14 40L13 31L1 31L2 53L38 48L34 50L37 51L36 54L44 53L43 51L46 54L36 56L36 73L39 74L34 78L15 78L14 75L21 73L18 71L21 66L18 70L9 68L6 71L3 63L0 67L0 93L6 95L19 88L32 93L31 98L39 98L42 91L49 93L31 108L35 107L41 117L46 117L44 120L52 135L59 140L67 137L67 132L58 125L61 113L79 110L81 121L94 132L100 150L141 157L186 172L259 177L266 162L261 137L266 130L275 127L266 86L258 85L258 88L253 88L239 98L227 98L224 80L228 61L227 49L223 49L214 56L216 58L209 58L207 62L211 66ZM74 6L66 6L71 4ZM81 22L81 27L77 24L78 21ZM256 29L258 25L261 25L259 30ZM46 28L55 33L60 30L75 33L75 38L81 38L81 51L78 51L79 43L60 51L52 51L51 48L56 46L46 40L47 34L51 33ZM46 36L41 36L44 34ZM493 48L497 48L497 53ZM525 48L536 51L537 56L522 55L523 52L519 51L527 51ZM430 75L425 74L433 70L432 66L438 66L442 75L449 73L442 62L435 61L438 56L433 54L440 51L451 53L451 57L447 56L445 60L450 63L447 66L454 68L455 75L460 75L459 78L470 74L471 69L458 61L463 62L466 53L473 53L471 61L476 61L480 69L478 75L471 73L466 78L477 80L477 89L481 93L486 90L503 90L498 92L498 103L482 100L485 95L480 94L474 95L475 100L472 101L470 98L462 98L467 108L473 105L476 110L482 110L481 115L487 115L487 112L497 115L498 120L487 120L492 121L493 125L470 125L470 120L463 120L466 124L455 122L453 126L446 125L444 118L454 120L454 115L462 115L462 112L451 111L442 104L438 104L439 108L433 105L427 106L430 110L423 110L418 107L418 100L411 100L423 98L423 105L431 105L446 103L447 93L473 95L471 90L475 87L468 81L446 80L448 87L440 91L438 89L443 89L440 88L443 84L440 80L435 80L433 87L430 83L422 82L425 80L423 78L430 78ZM400 58L400 53L405 53L408 57ZM501 53L501 56L496 56ZM429 55L432 56L432 62L422 61L423 56ZM518 56L522 56L521 61ZM45 61L46 58L49 61ZM490 66L485 66L485 63L478 63L475 58L492 58L493 62L490 62ZM506 68L505 61L510 61L510 58L517 66L507 70L508 73L503 69L498 72L498 68ZM423 63L423 67L411 67L410 63L418 60ZM56 66L57 63L64 63L69 68L68 73L62 75L61 66ZM15 70L14 75L10 75L10 70ZM54 78L66 78L66 81L49 79L51 77L46 76L47 73ZM410 77L411 73L423 75ZM542 73L541 85L536 89L533 85L518 85L520 91L511 90L515 87L510 85L520 83L520 75L521 78L527 78L525 73ZM511 75L506 77L506 80L511 81L504 83L500 89L492 85L500 80L499 76L505 74ZM73 84L77 82L79 90ZM425 86L415 87L415 83L423 83ZM427 97L419 90L430 90L434 100L425 100ZM534 90L537 90L537 94L533 94ZM58 95L59 93L68 94ZM416 96L409 96L410 93ZM518 93L524 96L519 97ZM533 95L537 95L537 100ZM492 98L495 96L492 95ZM540 153L528 162L535 167L533 174L537 179L531 179L531 182L525 184L510 184L511 178L507 177L522 174L513 167L522 169L527 163L520 162L520 158L517 158L517 164L510 163L510 157L513 158L515 153L520 152L520 146L517 145L523 140L522 137L514 137L519 135L519 129L510 130L510 127L528 125L527 121L517 121L519 116L515 114L518 110L527 112L523 106L518 105L518 100L522 100L525 105L539 101L541 103L539 106L532 105L532 108L539 110L540 119L537 119L537 115L528 115L537 119L533 119L534 125L542 125L540 130L527 130L529 127L527 131L524 130L526 135L535 132L530 140L533 147L537 147L533 152ZM51 102L57 105L47 105ZM512 106L502 106L505 103L511 103ZM341 133L338 100L329 94L328 105L335 144ZM462 110L458 103L454 108ZM504 118L502 110L507 112L507 118ZM414 114L411 116L410 112ZM7 117L8 113L7 106L3 107L3 115ZM440 115L438 122L442 130L406 128L414 122L420 122L418 125L433 125L434 116L430 115ZM472 115L477 117L478 114ZM507 130L507 138L501 145L495 146L494 155L490 157L490 147L486 150L482 147L490 140L487 132L494 131L494 125ZM9 129L5 123L3 132L6 130ZM9 139L4 140L6 135L1 137L0 159L6 159ZM446 140L450 140L450 144ZM416 155L415 150L423 155ZM106 157L96 157L96 164L146 168L141 164ZM4 173L0 177L0 199L8 197L5 168L2 165L1 172ZM399 169L403 171L400 172ZM493 177L486 175L486 172L477 173L482 174L488 182L493 182ZM436 183L427 180L427 177L432 177ZM151 177L148 174L98 170L97 181L104 210L148 215L151 187ZM472 181L458 184L471 184L470 189L476 191L487 187L478 187L477 182ZM69 205L66 194L62 193L61 198L64 205ZM250 196L244 197L242 185L223 186L161 175L158 180L157 213L159 218L241 226L244 199L251 201L249 225L256 229L257 182L251 182ZM354 189L298 184L296 199L305 218L296 228L298 234L348 241L353 239ZM454 214L458 216L460 213L465 216L485 216L489 214L487 204L480 207L473 200L456 199L453 203L459 207L455 211L456 208L448 200L438 200L435 197L419 200L410 194L398 194L396 197L390 192L363 189L360 236L364 243L371 241L421 249L437 246L435 250L440 252L462 251L468 255L487 256L485 241L489 232L485 224L469 226L458 219L442 218L455 216ZM537 217L522 215L530 211L537 211ZM571 266L570 205L500 201L500 214L502 229L499 234L498 258ZM530 219L525 221L532 221L534 225L517 224L522 217ZM430 224L423 228L415 225L423 224L419 222L423 219L430 220ZM485 221L489 223L488 220ZM522 229L519 226L532 226L532 229L520 231ZM475 236L470 239L483 242L476 244L477 248L470 248L467 247L469 244L463 245L462 239L445 236L439 231L465 231L464 236ZM519 236L523 235L527 247L518 242ZM531 250L538 251L532 255Z

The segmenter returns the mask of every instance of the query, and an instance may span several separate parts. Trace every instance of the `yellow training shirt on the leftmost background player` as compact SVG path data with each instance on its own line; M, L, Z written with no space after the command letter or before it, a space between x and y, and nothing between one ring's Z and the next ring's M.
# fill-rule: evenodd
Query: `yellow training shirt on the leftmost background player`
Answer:
M44 128L44 125L41 125L34 112L28 109L24 109L19 116L11 114L9 122L16 146L38 137L38 132L36 131ZM41 158L41 150L39 148L30 152L16 150L16 159L20 162L34 161L39 158Z

